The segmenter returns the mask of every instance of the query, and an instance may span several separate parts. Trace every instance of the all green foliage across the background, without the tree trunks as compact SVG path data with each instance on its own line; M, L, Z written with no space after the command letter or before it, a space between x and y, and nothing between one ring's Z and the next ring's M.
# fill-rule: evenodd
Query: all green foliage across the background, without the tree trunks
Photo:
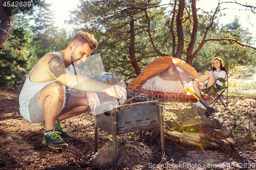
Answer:
M79 29L74 32L82 30L95 35L99 42L99 50L93 51L92 55L101 54L105 71L115 68L116 72L121 72L129 79L137 76L134 66L129 62L131 60L131 44L133 43L131 38L133 21L135 49L132 51L135 53L135 57L155 56L157 53L152 41L160 53L172 56L173 45L176 46L178 42L176 35L176 44L173 44L170 32L173 4L169 6L170 8L166 8L159 6L160 1L152 0L80 0L80 2L78 10L72 12L73 17L69 23L78 26ZM186 60L186 49L191 39L191 30L193 30L193 15L189 1L186 1L186 7L188 10L184 11L182 23L184 53L181 59L183 60ZM177 11L178 6L176 6ZM60 51L68 46L72 34L67 36L65 30L58 30L54 27L52 16L49 4L45 1L41 1L26 14L15 15L14 31L4 49L0 51L0 69L5 73L0 77L1 86L24 82L26 75L38 59L47 53ZM210 13L198 14L199 25L194 52L199 47L205 30L210 24L209 18ZM31 20L34 21L33 25L30 24ZM174 26L176 26L176 18ZM151 37L147 32L148 27L150 27ZM174 29L177 34L176 28ZM248 30L243 29L238 18L234 18L234 21L225 26L215 22L209 30L206 40L223 38L235 39L247 45L253 43L252 35ZM229 63L230 68L237 64L255 63L255 50L243 47L234 41L223 40L205 42L193 60L192 66L200 69L208 65L218 52L220 52L218 57L223 58L225 63ZM155 58L137 59L140 70L142 71Z

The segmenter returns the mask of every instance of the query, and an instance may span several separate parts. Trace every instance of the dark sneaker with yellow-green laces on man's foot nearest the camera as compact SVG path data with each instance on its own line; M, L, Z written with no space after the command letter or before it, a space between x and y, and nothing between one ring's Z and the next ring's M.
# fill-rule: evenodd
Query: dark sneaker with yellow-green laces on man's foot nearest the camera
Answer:
M55 131L55 129L44 134L42 143L55 150L61 150L68 147L68 144L60 137L60 132Z

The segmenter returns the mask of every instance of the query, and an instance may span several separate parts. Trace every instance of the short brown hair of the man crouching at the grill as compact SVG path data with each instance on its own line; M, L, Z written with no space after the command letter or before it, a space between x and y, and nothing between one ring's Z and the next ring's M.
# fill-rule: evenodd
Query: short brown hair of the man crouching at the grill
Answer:
M91 50L98 50L98 42L94 38L94 35L88 33L88 32L83 32L83 31L77 31L75 36L72 38L70 43L73 43L77 46L83 45L85 43L88 43L90 46Z

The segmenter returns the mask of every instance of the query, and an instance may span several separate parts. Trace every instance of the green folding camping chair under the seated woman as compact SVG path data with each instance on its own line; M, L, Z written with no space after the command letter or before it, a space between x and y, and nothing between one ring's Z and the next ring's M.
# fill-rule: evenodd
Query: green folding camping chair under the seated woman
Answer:
M225 70L226 70L226 80L224 80L223 78L217 79L217 80L219 80L220 82L223 83L223 85L220 87L220 89L217 89L214 86L210 86L206 89L201 90L203 92L202 99L204 99L204 96L206 94L215 94L216 95L215 100L213 102L211 102L211 104L210 104L210 95L209 95L208 103L211 106L214 106L215 103L219 100L222 103L223 106L227 107L227 102L226 102L226 105L225 105L224 102L221 99L221 96L222 96L223 92L227 89L226 98L227 98L227 101L228 101L228 64L224 65L223 68L225 68ZM215 83L216 83L216 81L215 81ZM227 82L227 86L226 86L225 82ZM220 92L220 91L221 91L221 93L218 94L218 92Z

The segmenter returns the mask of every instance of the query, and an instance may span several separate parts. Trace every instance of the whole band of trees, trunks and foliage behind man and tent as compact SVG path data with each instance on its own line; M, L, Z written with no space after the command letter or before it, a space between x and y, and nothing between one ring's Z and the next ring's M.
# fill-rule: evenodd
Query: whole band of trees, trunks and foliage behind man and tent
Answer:
M160 56L180 58L198 72L210 69L216 56L231 68L255 63L255 35L239 16L226 25L218 22L229 4L256 15L255 2L248 3L252 1L217 1L214 10L205 11L196 7L196 0L80 0L67 18L76 26L69 32L54 26L50 4L31 2L33 8L13 13L13 31L0 50L0 86L23 84L42 56L65 49L79 30L95 35L99 50L92 54L101 54L105 70L115 68L128 82Z

